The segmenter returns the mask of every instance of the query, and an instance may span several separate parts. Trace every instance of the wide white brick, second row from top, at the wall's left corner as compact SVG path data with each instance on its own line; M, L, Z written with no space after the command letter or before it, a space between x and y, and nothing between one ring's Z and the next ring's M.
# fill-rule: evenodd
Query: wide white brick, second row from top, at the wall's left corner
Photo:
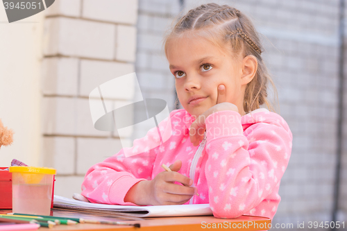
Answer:
M47 18L44 55L69 55L112 60L115 25L65 17Z

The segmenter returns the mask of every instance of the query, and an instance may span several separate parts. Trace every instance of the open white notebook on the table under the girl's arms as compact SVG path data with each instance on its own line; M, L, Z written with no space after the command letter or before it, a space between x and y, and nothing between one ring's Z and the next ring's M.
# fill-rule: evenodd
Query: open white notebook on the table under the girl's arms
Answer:
M158 205L158 206L128 206L105 205L73 200L54 195L54 207L75 209L81 211L96 211L110 214L125 214L126 216L205 216L212 215L209 204L199 205Z

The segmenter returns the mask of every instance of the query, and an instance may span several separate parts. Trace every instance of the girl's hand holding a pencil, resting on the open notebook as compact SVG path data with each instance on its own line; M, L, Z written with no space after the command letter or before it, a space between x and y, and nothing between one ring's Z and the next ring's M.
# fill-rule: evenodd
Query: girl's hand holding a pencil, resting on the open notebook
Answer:
M176 160L169 168L172 171L162 171L153 180L142 180L129 189L124 201L137 205L182 205L194 194L195 187L189 187L193 181L178 173L182 166L180 160ZM183 185L176 185L174 182Z

